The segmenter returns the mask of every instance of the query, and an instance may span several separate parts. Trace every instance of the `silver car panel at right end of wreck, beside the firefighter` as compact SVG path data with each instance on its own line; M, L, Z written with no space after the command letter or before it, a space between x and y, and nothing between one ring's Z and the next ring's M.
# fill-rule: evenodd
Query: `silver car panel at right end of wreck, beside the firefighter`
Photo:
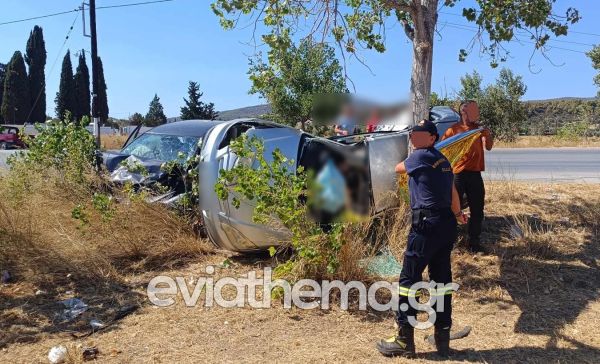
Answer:
M397 205L398 178L396 164L408 156L408 133L382 133L365 140L369 155L369 172L373 212Z

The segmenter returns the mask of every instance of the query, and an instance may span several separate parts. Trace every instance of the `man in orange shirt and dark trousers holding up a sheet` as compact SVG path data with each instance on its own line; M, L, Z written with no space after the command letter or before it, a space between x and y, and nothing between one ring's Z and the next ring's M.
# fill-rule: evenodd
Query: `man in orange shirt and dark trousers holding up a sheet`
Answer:
M442 136L442 140L469 130L481 128L479 124L479 106L477 102L468 100L460 104L460 121L450 126ZM481 138L473 142L465 155L454 164L454 184L462 199L466 195L469 204L468 246L473 252L482 251L481 225L483 223L483 208L485 204L485 186L481 172L485 170L484 151L492 150L494 138L488 128L483 128ZM464 205L465 203L461 203Z

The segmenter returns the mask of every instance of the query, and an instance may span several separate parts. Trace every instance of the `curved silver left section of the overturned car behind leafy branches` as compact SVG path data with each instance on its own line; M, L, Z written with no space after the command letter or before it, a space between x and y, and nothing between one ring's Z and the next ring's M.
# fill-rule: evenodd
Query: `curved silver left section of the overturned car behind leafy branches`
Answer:
M230 149L230 142L244 133L263 140L267 161L271 160L275 148L295 160L302 134L293 128L248 121L219 125L207 134L200 153L200 209L211 240L218 246L236 251L268 248L290 238L289 231L276 219L269 226L254 223L253 201L237 195L231 189L228 200L220 201L214 192L221 169L231 169L240 162L255 163L240 161ZM239 208L233 206L234 197L240 200Z

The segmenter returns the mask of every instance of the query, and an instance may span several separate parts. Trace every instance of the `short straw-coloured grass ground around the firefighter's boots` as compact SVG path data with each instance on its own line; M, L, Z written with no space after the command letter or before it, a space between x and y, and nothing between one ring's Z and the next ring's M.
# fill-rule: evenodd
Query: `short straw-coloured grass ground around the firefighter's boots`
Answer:
M596 362L600 354L600 186L493 182L486 187L482 238L488 254L470 254L460 242L453 253L454 277L461 286L454 296L454 323L474 327L469 337L452 342L459 350L454 361ZM347 261L348 277L357 274L351 263L384 239L401 257L407 228L404 212L388 213L371 225L348 232L364 237L343 250L340 261ZM131 229L143 233L140 226ZM364 242L369 243L361 246ZM106 259L114 261L110 256ZM222 265L225 259L231 265ZM159 266L163 267L160 274L199 277L211 265L217 267L217 279L272 264L265 255L217 253L201 262ZM132 269L119 274L129 286L137 287L127 291L131 296L141 295L151 276L159 272ZM13 284L0 288L0 296L33 289ZM99 359L109 363L381 362L374 342L393 330L390 312L284 310L277 303L267 310L147 305L114 329L89 338L53 332L27 343L25 329L35 335L38 322L31 315L32 307L0 308L4 327L12 331L21 327L21 336L12 337L6 350L0 351L0 361L45 361L48 349L62 344L69 345L74 362L81 346L92 345L98 346ZM101 308L90 311L101 312ZM423 336L417 332L420 354L414 361L439 361Z

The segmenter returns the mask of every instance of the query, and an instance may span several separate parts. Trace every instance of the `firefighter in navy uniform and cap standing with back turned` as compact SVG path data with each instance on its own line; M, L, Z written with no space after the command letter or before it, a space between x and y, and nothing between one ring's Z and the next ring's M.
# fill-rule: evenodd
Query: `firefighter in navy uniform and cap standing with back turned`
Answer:
M444 285L452 282L450 253L456 240L456 224L457 220L466 223L466 217L460 209L450 162L433 146L438 139L435 124L420 121L410 133L414 151L396 166L397 173L407 173L409 177L412 224L400 273L398 333L377 343L377 349L385 356L415 354L414 327L409 319L416 320L416 310L409 297L418 295L411 287L422 281L425 268L428 267L432 281ZM434 338L438 354L446 357L452 325L452 291L437 292L443 310L437 312Z

